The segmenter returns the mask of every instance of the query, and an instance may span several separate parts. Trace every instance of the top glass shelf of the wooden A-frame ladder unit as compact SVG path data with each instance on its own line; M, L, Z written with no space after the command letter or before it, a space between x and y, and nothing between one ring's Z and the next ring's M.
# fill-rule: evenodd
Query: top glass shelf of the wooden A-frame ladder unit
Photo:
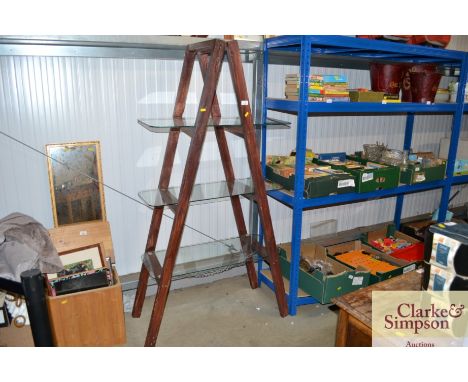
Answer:
M167 133L170 129L174 128L195 128L196 118L141 118L138 123L152 133ZM266 125L269 129L289 129L291 122L281 121L279 119L267 118ZM254 123L256 129L262 127L262 123L256 121ZM241 127L241 120L239 117L221 117L210 118L208 121L208 128L212 130L214 127L239 128Z

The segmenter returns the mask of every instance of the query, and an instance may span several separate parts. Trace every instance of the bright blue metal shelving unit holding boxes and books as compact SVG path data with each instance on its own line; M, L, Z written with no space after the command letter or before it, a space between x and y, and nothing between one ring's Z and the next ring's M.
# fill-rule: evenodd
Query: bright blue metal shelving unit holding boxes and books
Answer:
M269 53L298 52L300 55L300 79L299 100L290 101L284 99L268 98L268 62ZM460 86L457 102L453 104L419 104L419 103L318 103L308 102L309 73L311 60L320 55L347 57L348 59L364 59L368 61L394 61L412 63L436 63L448 67L460 68ZM264 77L263 77L263 121L268 110L294 113L297 115L296 133L296 177L294 194L286 194L282 191L270 191L268 194L292 209L293 224L291 235L291 277L288 293L289 314L295 315L299 305L315 303L311 297L298 297L299 260L302 238L302 213L304 210L365 201L377 198L396 196L395 223L400 223L403 210L404 195L413 192L421 192L436 188L442 189L439 205L439 221L445 217L448 208L448 200L452 185L468 183L468 176L453 176L458 139L462 124L463 113L468 112L468 105L463 103L465 84L467 80L468 54L465 52L428 48L415 45L399 44L386 41L367 40L345 36L280 36L266 39L264 43ZM313 62L312 62L313 63ZM305 199L302 194L304 189L304 164L307 142L307 119L314 114L346 115L346 114L392 114L405 113L407 115L404 149L411 147L413 124L415 114L439 113L451 114L452 135L447 160L446 177L443 180L422 183L416 185L404 185L389 190L374 191L368 193L349 193L320 198ZM261 156L265 167L266 160L266 128L262 129ZM264 169L265 170L265 169ZM261 272L259 266L259 280L272 287L271 282Z

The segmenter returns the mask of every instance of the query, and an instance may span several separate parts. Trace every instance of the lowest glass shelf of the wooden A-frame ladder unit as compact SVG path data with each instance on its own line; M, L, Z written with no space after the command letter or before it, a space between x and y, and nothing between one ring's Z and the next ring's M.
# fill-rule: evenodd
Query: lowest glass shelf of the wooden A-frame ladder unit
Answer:
M244 250L242 249L241 239L238 237L180 247L172 279L206 277L242 266L248 258L257 261L258 253L253 249L258 248L257 236L248 235L244 241ZM159 278L159 275L155 276L154 274L151 266L152 262L156 257L163 266L165 256L165 250L143 254L143 264L152 278Z

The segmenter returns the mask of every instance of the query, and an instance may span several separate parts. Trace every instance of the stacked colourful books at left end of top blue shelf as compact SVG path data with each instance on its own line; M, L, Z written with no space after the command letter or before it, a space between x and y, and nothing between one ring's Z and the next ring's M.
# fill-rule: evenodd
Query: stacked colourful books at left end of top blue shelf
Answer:
M299 75L287 74L285 82L286 99L298 100ZM343 75L312 74L308 94L309 102L349 102L348 79Z

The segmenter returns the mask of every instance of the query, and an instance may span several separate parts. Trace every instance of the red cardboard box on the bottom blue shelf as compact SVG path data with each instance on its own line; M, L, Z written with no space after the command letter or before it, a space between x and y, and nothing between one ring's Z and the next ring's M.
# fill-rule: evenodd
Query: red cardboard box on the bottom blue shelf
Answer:
M424 243L411 237L409 235L404 234L403 232L395 230L394 225L389 225L387 227L369 231L362 235L361 240L373 248L377 249L379 252L384 252L380 248L374 246L372 244L373 241L378 239L384 239L386 237L393 236L397 239L402 239L407 241L408 243L412 243L410 246L396 249L394 251L385 252L387 255L395 257L397 259L403 259L407 261L423 261L424 260Z

